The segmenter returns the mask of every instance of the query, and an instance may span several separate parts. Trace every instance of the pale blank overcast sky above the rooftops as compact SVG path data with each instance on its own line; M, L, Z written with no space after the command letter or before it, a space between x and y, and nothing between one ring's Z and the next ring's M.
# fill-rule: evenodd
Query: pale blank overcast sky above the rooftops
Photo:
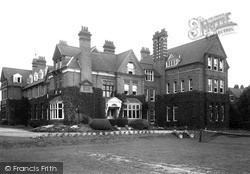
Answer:
M5 0L0 1L1 67L31 69L35 54L52 65L55 45L65 40L78 46L78 32L87 26L92 46L102 51L111 40L116 53L141 47L152 53L153 34L165 28L168 48L192 40L188 21L231 12L236 32L219 36L227 54L229 86L250 84L249 5L245 1L210 0Z

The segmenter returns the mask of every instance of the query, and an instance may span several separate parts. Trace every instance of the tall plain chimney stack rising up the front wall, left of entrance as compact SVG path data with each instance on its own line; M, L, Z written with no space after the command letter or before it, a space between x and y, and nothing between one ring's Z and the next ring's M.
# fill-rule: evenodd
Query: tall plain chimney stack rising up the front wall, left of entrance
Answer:
M82 27L78 36L81 50L81 54L79 55L79 65L81 69L80 92L93 93L92 60L90 57L91 33L88 31L87 27Z

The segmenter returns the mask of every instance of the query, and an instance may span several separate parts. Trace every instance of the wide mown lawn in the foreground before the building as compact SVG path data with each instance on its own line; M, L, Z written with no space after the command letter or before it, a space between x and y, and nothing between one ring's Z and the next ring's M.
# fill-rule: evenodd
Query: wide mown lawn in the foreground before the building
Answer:
M20 139L5 140L15 144ZM0 161L63 162L66 174L250 173L247 137L217 136L202 143L171 134L23 139L25 142L33 145L2 147Z

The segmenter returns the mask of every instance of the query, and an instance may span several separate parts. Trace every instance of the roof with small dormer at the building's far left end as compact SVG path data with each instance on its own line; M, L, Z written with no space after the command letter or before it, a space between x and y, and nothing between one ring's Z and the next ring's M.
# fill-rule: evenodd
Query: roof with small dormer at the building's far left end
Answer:
M13 75L15 75L17 73L22 76L22 83L14 83L13 82ZM7 79L8 85L22 87L22 86L25 86L27 84L27 78L30 75L30 73L32 73L32 70L3 67L2 74L1 74L1 81L3 81L4 79Z

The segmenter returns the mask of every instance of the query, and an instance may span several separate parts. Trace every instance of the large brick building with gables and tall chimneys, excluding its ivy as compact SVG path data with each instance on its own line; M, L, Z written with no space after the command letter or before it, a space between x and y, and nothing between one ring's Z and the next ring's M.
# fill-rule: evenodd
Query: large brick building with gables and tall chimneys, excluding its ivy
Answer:
M79 47L69 46L65 41L56 45L53 66L47 66L44 57L38 57L33 59L32 70L2 69L2 120L8 120L7 99L20 99L22 96L29 98L31 103L36 103L32 101L41 97L47 98L32 105L35 107L33 120L65 119L62 89L77 86L79 93L102 89L107 118L119 115L131 119L145 118L162 126L175 125L179 120L187 124L182 117L193 113L183 114L185 111L181 107L187 101L178 106L181 99L175 96L192 96L197 91L203 101L202 111L199 109L202 118L191 116L193 122L207 126L209 122L204 119L210 114L214 115L211 122L226 123L228 97L220 96L227 93L229 67L217 35L167 49L167 32L163 29L153 36L153 54L143 47L140 61L133 50L116 54L111 41L105 41L103 51L91 47L92 35L86 27L78 36ZM121 101L115 97L116 94L130 97ZM142 112L143 103L136 98L138 95L145 95L147 112ZM156 101L156 96L159 96L159 101ZM165 103L159 103L160 98L164 98ZM197 108L193 109L196 112Z

